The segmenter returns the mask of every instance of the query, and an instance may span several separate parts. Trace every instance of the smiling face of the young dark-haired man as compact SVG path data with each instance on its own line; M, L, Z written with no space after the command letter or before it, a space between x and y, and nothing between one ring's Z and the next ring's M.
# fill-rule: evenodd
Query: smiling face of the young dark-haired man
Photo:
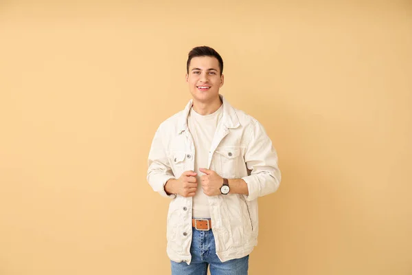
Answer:
M186 81L194 100L204 103L216 100L219 96L219 89L223 86L219 61L213 56L192 58Z

